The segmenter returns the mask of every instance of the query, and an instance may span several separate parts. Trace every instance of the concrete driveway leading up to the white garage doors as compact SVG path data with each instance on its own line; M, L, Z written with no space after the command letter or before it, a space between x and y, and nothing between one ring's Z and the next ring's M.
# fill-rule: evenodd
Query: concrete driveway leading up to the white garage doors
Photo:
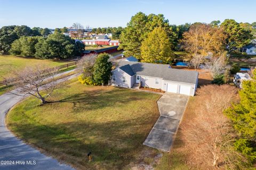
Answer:
M144 145L169 152L189 96L164 93L157 101L160 116L151 129Z

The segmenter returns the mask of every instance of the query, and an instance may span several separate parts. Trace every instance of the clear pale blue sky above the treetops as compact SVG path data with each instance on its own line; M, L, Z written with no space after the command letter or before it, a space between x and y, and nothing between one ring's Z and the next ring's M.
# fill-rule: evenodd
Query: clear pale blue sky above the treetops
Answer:
M62 28L74 22L84 27L126 26L137 12L162 13L171 24L186 22L256 21L255 0L0 0L0 27Z

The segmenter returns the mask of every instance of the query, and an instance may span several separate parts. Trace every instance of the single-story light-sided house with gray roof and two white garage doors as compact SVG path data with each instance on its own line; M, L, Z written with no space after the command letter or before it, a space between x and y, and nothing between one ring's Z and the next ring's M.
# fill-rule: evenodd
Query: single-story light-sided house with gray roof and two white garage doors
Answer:
M120 61L109 83L126 88L140 83L143 87L193 96L197 82L197 71L173 69L169 64Z

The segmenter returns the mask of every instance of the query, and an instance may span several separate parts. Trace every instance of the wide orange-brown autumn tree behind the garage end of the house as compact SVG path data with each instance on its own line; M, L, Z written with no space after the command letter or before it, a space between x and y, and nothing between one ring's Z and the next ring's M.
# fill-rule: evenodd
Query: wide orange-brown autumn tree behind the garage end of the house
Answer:
M222 29L203 23L194 23L189 31L183 34L183 48L195 55L207 55L209 52L218 55L225 50L225 34Z

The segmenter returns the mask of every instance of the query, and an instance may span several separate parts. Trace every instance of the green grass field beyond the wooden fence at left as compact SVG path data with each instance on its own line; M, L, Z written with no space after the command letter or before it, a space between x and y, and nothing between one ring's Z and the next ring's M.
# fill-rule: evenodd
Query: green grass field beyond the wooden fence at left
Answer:
M26 66L33 66L36 64L46 64L49 67L57 67L68 62L39 60L34 58L23 58L22 56L0 55L0 81L3 76L11 74L14 69L23 69Z

